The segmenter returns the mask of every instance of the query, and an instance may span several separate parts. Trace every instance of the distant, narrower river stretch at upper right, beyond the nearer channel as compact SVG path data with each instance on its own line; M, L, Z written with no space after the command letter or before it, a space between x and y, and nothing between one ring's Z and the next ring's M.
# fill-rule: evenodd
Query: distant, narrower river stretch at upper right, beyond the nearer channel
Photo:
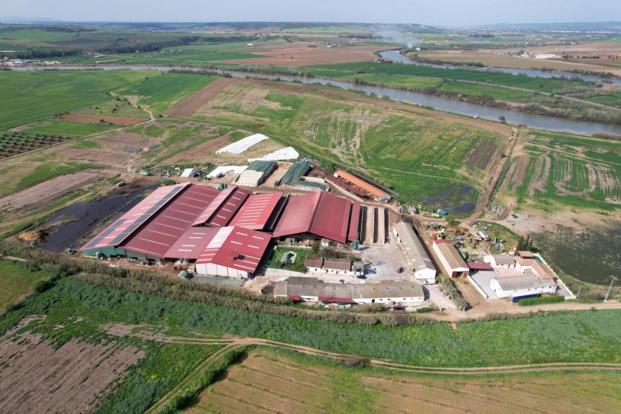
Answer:
M579 73L569 73L569 72L553 72L551 70L540 70L540 69L521 69L521 68L501 68L500 66L486 66L484 68L478 68L477 66L453 66L453 65L435 65L433 63L419 63L409 59L408 57L402 55L399 50L386 50L385 52L380 52L380 55L386 59L391 59L393 62L405 63L406 65L415 65L415 66L431 66L433 68L442 68L442 69L466 69L466 70L479 70L481 72L503 72L510 73L511 75L526 75L528 77L543 77L543 78L558 78L558 77L575 77L580 78L583 81L589 82L603 82L610 81L615 85L621 85L621 79L616 78L604 78L600 76L593 75L581 75Z

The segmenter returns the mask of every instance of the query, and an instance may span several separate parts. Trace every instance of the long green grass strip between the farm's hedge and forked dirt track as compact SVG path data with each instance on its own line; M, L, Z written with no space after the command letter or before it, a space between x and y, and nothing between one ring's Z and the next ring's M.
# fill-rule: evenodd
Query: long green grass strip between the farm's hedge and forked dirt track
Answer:
M421 326L364 326L183 302L95 286L71 277L0 320L0 333L27 315L79 316L85 324L123 322L261 337L325 351L421 366L618 362L618 311L567 311L522 319ZM60 334L59 334L60 335ZM335 340L338 338L338 340Z

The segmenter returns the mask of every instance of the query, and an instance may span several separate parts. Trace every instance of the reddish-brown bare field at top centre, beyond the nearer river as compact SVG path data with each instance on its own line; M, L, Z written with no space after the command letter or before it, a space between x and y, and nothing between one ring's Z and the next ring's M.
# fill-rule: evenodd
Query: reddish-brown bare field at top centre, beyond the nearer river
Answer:
M309 48L309 43L283 43L253 48L253 52L269 57L254 59L233 59L226 63L247 63L252 65L311 66L328 63L348 63L375 60L379 46L339 46L337 48Z

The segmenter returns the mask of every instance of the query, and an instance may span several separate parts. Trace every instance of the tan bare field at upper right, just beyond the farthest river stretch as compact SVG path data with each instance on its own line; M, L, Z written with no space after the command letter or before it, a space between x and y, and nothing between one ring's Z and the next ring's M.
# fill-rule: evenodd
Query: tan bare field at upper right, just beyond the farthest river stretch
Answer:
M531 52L531 50L529 50ZM560 53L558 50L557 53ZM485 66L504 66L506 68L553 68L557 70L595 70L598 72L613 72L615 75L621 75L621 69L611 68L609 66L600 66L589 63L568 62L552 59L532 59L527 57L513 57L500 55L500 50L455 50L442 52L419 52L420 57L428 59L441 59L446 61L467 61L480 62Z

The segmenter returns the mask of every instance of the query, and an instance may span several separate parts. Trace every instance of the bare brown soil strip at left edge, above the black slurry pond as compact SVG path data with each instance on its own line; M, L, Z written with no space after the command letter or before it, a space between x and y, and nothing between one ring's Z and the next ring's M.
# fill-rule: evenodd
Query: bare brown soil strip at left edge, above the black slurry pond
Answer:
M105 175L105 171L82 171L70 175L61 175L36 186L21 190L0 199L0 213L11 213L14 210L36 210L46 206L62 195L92 184Z

